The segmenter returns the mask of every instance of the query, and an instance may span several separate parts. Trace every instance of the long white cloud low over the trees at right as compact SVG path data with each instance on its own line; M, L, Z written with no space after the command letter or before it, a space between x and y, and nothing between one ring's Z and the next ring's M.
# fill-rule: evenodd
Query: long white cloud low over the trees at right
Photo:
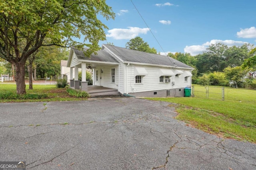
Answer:
M227 45L228 47L232 46L242 46L244 43L243 41L234 41L234 40L220 40L220 39L212 39L211 41L207 41L206 43L203 43L202 45L191 45L191 46L186 46L184 48L185 53L190 53L192 56L198 55L202 53L203 51L206 51L206 48L209 45L212 44L217 44L217 43L222 43L224 45Z

